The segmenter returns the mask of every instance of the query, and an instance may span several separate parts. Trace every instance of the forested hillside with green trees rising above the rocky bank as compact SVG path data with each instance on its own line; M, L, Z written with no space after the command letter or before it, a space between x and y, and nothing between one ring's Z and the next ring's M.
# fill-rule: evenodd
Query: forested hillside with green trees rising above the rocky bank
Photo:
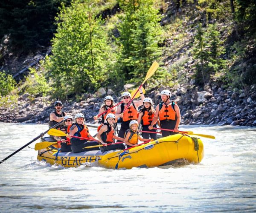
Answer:
M148 93L214 87L249 98L255 90L254 0L2 1L0 21L4 107L26 93L31 101L81 101L100 87L118 95L127 83L140 85L155 60ZM25 78L12 79L12 60L49 46Z

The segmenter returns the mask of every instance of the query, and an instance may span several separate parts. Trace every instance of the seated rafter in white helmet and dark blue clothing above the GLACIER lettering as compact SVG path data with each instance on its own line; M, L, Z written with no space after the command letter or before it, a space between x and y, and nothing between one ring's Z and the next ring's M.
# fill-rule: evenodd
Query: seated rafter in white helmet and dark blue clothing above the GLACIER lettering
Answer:
M90 135L88 127L84 124L84 115L82 113L76 114L75 123L73 123L68 128L68 130L70 130L70 135L68 137L74 135L74 136L89 138L93 140L93 141L87 142L87 140L85 139L71 137L70 139L71 150L73 153L80 153L80 152L89 151L89 150L99 150L99 147L83 149L84 147L95 146L99 144L97 140Z

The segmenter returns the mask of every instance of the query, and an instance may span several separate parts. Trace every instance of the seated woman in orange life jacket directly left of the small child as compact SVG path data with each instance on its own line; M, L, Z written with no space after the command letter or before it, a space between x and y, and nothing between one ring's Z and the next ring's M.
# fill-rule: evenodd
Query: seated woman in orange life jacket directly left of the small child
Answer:
M115 135L115 130L113 128L113 124L115 123L116 116L112 113L109 113L106 116L106 123L101 124L98 128L99 131L97 133L97 138L99 142L104 145L104 147L99 147L102 152L107 150L123 150L125 146L123 144L112 144L114 143L114 139L124 141L124 138L119 138ZM107 144L112 144L107 146Z

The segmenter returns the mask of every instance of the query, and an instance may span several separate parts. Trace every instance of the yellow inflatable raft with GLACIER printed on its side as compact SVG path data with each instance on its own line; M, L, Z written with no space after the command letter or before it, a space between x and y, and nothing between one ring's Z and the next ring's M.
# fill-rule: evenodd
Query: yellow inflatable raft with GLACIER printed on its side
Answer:
M170 135L128 150L86 151L59 153L55 145L38 151L38 160L64 167L78 167L86 162L98 162L106 168L157 167L169 165L178 159L200 163L204 145L200 138L184 134Z

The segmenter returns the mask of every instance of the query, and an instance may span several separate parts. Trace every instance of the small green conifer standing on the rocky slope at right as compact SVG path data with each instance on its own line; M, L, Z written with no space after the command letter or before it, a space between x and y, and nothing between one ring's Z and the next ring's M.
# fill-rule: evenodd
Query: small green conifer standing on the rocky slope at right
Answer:
M207 31L198 25L195 35L195 47L193 49L196 73L195 80L199 84L206 85L219 69L225 66L225 60L221 59L224 47L220 39L220 32L215 24L209 25Z

